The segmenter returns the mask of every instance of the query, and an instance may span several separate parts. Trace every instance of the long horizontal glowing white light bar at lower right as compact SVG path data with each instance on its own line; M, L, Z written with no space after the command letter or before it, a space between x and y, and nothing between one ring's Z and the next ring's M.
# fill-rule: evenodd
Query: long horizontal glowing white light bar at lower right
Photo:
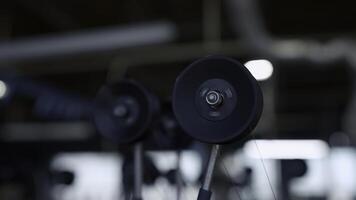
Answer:
M321 159L329 146L322 140L251 140L244 152L256 159Z

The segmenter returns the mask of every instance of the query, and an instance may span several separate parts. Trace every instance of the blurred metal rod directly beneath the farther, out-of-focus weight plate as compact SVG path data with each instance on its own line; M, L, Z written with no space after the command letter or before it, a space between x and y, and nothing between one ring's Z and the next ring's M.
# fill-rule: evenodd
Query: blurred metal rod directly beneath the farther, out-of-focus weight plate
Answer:
M142 143L138 142L135 144L134 147L134 181L135 181L135 188L134 188L134 199L139 200L142 199L142 179L143 179L143 173L142 173Z

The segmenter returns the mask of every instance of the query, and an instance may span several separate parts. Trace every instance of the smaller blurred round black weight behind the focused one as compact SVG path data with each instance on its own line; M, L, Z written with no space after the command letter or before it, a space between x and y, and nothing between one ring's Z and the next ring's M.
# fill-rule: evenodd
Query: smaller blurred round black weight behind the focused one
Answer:
M94 122L98 131L119 144L142 139L156 111L151 95L132 80L103 86L95 101Z

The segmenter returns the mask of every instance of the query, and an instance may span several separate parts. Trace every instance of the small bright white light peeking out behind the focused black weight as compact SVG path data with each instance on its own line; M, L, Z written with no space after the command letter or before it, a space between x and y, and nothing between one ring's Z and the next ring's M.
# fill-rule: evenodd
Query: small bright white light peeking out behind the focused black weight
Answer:
M273 74L273 65L268 60L251 60L245 66L258 81L267 80Z

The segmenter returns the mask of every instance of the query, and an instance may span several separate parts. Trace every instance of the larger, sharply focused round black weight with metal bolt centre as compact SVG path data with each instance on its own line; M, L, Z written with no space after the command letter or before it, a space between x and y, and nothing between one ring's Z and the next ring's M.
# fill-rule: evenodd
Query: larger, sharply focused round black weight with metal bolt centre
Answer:
M206 102L199 102L197 95L205 85L222 93L226 88L231 89L227 105L223 103L216 109L220 115L210 115ZM223 144L246 136L257 125L262 108L262 93L256 79L245 66L233 59L223 56L202 58L188 66L176 79L174 113L184 131L199 141Z

